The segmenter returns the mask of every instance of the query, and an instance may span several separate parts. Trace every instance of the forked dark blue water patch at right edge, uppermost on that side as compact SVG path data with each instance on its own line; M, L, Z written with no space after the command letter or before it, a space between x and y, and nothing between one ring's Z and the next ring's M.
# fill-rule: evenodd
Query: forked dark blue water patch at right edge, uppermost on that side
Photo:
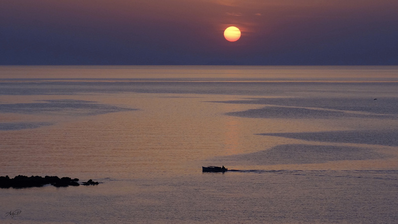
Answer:
M398 118L398 98L267 98L218 103L271 105L227 115L254 118L370 117ZM365 112L365 113L358 113Z

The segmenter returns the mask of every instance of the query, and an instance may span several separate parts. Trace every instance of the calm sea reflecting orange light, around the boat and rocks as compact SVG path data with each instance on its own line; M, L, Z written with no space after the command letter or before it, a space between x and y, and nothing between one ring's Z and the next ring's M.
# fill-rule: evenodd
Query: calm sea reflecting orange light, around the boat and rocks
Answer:
M0 223L398 223L398 66L0 66L0 157L99 182Z

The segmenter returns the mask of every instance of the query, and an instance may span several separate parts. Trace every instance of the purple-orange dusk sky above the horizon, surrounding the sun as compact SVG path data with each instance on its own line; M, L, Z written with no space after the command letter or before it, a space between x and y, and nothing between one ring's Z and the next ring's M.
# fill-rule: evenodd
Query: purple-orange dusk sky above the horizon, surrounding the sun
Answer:
M398 0L0 0L0 65L398 65Z

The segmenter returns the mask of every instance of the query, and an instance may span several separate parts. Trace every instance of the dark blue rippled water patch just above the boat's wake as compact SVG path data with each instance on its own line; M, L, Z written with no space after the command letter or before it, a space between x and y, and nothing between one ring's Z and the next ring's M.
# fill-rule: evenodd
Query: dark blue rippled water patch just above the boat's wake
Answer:
M253 153L216 157L216 160L223 164L279 165L326 163L342 160L384 159L388 157L391 157L391 155L382 154L372 149L362 147L285 144Z

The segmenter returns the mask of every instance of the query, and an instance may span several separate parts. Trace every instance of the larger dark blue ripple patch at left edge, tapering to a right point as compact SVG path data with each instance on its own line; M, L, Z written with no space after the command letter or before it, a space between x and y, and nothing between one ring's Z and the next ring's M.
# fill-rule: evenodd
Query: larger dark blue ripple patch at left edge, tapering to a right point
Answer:
M46 100L37 103L0 104L0 113L62 113L69 115L99 115L110 112L134 111L123 108L82 100Z

